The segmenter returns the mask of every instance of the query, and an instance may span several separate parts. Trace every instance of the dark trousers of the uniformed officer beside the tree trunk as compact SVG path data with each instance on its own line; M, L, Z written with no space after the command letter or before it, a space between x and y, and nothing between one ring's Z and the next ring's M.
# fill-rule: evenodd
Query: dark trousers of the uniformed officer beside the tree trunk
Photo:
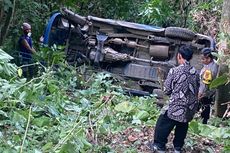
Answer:
M202 123L207 124L208 119L210 118L210 112L211 112L211 104L212 104L213 98L203 97L200 99L200 107L201 108L201 118Z

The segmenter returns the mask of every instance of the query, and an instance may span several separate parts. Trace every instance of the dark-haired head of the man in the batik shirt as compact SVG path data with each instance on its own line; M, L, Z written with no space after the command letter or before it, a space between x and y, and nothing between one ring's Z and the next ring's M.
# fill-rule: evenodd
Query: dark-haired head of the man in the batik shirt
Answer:
M177 60L179 64L183 64L185 61L192 59L193 50L190 46L183 45L178 50Z

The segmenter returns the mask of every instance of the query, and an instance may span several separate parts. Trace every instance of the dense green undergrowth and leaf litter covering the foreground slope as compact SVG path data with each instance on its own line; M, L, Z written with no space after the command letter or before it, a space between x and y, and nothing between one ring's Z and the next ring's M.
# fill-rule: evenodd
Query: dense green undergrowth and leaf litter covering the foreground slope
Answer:
M28 80L0 50L0 152L148 152L146 130L159 115L155 97L128 96L107 73L85 78L85 66L76 69L57 49L50 52L52 62L35 63L37 75ZM230 150L230 122L211 123L191 122L186 151Z

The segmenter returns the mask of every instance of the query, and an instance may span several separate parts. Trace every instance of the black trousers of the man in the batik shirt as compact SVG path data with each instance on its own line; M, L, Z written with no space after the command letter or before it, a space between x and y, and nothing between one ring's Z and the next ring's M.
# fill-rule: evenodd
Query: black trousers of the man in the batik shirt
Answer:
M184 139L186 138L188 131L188 122L181 123L168 118L167 112L160 115L155 127L154 133L154 145L159 148L159 150L166 150L166 143L168 142L168 136L175 128L175 134L173 139L174 149L181 150L184 145Z

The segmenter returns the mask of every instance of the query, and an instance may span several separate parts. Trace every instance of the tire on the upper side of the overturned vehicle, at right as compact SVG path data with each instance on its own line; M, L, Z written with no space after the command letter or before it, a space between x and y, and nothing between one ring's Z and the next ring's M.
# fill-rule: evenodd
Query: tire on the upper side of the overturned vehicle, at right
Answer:
M169 38L178 38L186 41L191 41L196 34L191 30L179 27L168 27L165 29L165 36Z

